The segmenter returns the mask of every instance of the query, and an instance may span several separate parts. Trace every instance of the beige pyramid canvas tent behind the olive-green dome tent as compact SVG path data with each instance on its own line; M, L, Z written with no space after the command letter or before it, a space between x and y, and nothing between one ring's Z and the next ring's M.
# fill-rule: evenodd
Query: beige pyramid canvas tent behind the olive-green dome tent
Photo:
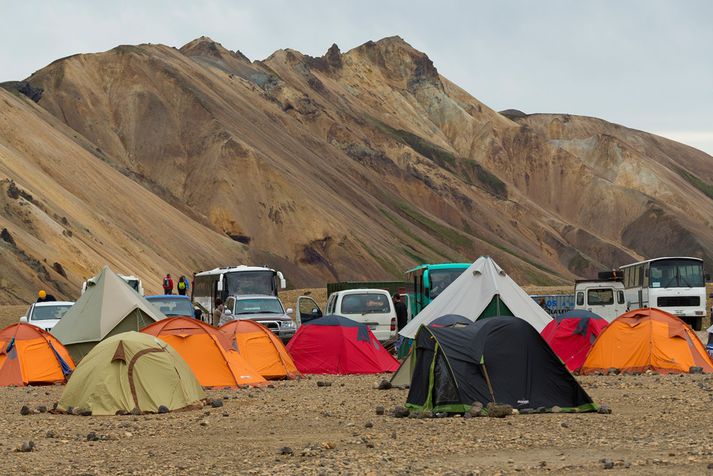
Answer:
M138 331L166 317L107 266L91 282L52 329L75 362L106 337Z

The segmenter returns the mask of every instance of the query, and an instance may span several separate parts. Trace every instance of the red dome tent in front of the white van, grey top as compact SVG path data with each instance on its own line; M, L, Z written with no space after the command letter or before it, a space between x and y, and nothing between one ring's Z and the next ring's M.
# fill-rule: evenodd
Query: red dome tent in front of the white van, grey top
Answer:
M399 368L366 325L342 316L303 324L287 351L303 374L377 374Z

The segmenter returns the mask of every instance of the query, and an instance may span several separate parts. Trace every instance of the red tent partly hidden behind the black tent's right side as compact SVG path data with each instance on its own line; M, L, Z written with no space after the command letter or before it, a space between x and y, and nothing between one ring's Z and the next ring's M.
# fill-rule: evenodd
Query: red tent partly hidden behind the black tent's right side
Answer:
M555 317L542 329L541 335L574 372L582 367L589 349L608 324L593 312L575 309Z

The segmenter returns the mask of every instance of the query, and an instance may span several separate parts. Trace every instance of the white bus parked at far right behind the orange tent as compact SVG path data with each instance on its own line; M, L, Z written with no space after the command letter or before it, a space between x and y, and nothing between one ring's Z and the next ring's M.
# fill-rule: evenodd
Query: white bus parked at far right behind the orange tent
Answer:
M622 266L621 270L628 309L656 307L701 330L708 279L702 259L654 258Z

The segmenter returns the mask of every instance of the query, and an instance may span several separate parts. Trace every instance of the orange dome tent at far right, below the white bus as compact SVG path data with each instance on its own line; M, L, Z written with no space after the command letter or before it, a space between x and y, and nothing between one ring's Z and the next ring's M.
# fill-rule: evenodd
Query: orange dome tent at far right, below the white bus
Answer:
M713 361L696 334L678 317L656 308L637 309L614 319L599 335L580 373L654 370L713 372Z

